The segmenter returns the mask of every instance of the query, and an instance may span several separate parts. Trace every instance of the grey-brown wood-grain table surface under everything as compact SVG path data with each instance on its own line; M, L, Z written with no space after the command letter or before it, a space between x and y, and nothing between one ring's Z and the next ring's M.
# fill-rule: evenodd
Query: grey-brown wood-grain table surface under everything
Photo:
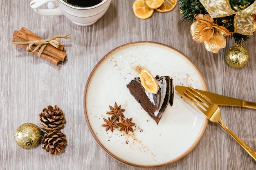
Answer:
M190 24L182 22L179 4L169 13L139 20L133 0L112 0L106 14L92 26L78 26L62 16L40 16L29 0L2 0L0 7L0 169L2 170L138 170L110 157L92 137L85 121L83 95L94 66L112 49L136 41L153 41L184 53L200 70L209 91L256 102L256 35L243 45L250 60L240 69L219 54L206 51L191 39ZM14 30L25 27L43 38L70 34L61 40L67 60L55 66L18 46L9 45ZM39 145L20 148L15 130L24 123L39 124L38 114L58 105L67 123L62 130L68 145L60 155L49 155ZM256 110L222 106L222 120L245 143L256 149ZM220 126L208 123L201 140L183 159L158 170L255 170L256 163Z

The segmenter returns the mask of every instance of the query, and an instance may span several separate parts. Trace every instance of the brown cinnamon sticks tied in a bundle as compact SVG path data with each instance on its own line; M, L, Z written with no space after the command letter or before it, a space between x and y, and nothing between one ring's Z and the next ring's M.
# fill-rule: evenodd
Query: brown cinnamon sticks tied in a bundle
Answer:
M35 33L29 31L28 29L22 27L20 31L14 31L13 33L13 40L12 42L28 42L28 41L35 41L35 40L43 40L43 38L39 37ZM22 49L27 49L28 44L16 44L20 46ZM31 46L31 50L34 50L36 45ZM33 53L38 55L40 49L37 49ZM64 45L59 45L58 48L52 46L52 44L46 44L45 48L43 49L43 53L40 54L40 57L49 60L55 65L58 65L59 62L63 62L66 57L66 51L64 49Z

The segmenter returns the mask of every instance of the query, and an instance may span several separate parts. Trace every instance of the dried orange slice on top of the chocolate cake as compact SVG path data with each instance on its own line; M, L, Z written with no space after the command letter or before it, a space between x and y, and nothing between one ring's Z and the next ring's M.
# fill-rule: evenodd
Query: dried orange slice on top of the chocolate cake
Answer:
M158 83L155 77L146 69L143 68L140 73L140 81L142 86L150 93L156 94L159 90Z

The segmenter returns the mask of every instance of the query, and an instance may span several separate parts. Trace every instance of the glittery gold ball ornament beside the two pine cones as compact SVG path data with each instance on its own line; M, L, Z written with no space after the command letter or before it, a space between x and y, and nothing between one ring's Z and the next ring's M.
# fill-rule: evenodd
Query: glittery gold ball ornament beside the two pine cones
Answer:
M16 129L14 139L18 146L29 149L39 144L43 134L44 132L35 124L25 123Z

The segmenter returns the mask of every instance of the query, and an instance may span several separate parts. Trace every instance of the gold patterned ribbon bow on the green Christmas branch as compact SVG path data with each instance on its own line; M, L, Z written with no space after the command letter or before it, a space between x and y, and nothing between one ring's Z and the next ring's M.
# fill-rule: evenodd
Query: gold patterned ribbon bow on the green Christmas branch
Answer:
M243 35L253 35L256 31L256 21L253 15L256 15L256 1L242 11L231 9L229 0L199 0L211 18L222 18L235 15L234 32Z

